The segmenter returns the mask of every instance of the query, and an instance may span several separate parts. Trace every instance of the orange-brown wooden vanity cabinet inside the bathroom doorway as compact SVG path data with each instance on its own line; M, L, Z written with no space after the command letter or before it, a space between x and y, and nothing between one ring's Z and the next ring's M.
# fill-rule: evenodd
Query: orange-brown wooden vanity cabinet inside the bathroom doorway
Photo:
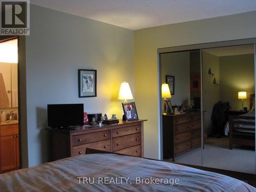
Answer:
M19 168L18 124L0 126L0 173Z

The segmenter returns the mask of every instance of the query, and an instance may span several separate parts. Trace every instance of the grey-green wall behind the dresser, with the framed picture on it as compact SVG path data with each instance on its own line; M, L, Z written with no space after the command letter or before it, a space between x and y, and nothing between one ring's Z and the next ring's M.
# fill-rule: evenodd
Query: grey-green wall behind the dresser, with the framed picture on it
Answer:
M22 141L24 147L28 145L28 152L23 150L24 162L34 166L50 160L47 104L84 103L85 112L122 117L117 96L124 79L134 94L134 34L34 5L30 14L30 36L26 44L22 42L26 65L23 60L20 73L25 76L21 83L26 93L21 97L21 115L22 129L27 124ZM97 70L97 97L78 98L78 69Z

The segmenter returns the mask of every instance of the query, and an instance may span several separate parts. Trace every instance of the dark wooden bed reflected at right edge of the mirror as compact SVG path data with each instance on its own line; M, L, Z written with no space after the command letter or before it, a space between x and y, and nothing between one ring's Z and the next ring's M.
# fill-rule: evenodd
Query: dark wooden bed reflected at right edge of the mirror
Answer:
M255 146L255 111L239 116L229 116L228 129L230 150L233 144Z

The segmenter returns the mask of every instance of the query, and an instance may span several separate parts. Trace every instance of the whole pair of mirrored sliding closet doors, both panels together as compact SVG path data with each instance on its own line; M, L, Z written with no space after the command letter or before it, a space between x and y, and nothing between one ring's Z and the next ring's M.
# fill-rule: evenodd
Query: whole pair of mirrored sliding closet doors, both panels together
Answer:
M161 53L160 69L163 159L255 173L254 45Z

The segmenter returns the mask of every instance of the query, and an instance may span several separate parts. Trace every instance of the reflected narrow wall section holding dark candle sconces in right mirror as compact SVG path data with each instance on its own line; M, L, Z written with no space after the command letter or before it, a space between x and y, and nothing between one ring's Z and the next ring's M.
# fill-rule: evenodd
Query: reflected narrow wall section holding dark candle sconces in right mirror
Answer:
M220 86L214 86L214 77L220 83L220 60L216 55L212 55L202 51L202 67L203 67L203 111L205 133L212 133L211 114L214 104L220 101ZM208 75L208 70L214 73L214 77Z

